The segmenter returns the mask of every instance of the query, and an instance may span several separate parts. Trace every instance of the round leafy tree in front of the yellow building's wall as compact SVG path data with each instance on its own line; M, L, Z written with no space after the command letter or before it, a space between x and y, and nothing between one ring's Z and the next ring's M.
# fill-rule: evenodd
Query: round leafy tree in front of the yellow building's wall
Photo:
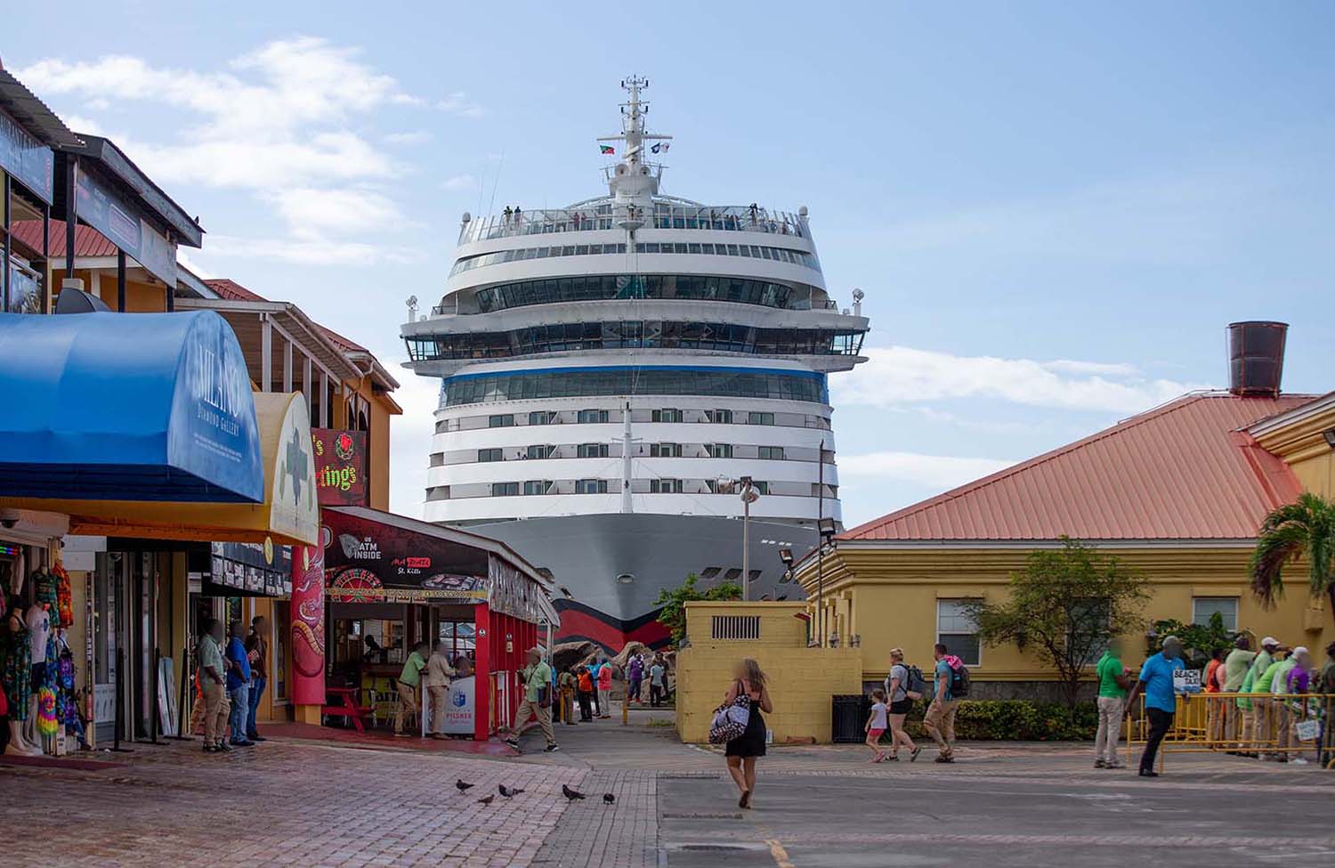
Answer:
M1109 636L1137 630L1148 582L1116 557L1061 537L1061 548L1033 552L1023 570L1011 574L1011 597L967 606L988 645L1033 645L1056 669L1067 705L1075 706L1080 678Z

